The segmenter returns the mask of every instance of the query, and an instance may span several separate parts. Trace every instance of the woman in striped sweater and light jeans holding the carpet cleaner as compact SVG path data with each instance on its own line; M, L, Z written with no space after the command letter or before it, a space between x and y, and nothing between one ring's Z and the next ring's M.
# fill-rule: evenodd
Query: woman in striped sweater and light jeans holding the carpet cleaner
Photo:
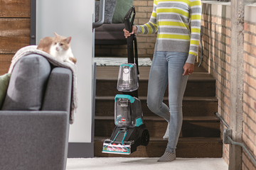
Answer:
M201 29L201 0L154 0L148 23L124 29L133 33L157 33L154 57L149 73L147 105L168 122L168 144L158 162L176 159L176 145L183 121L182 100L188 75L193 73ZM169 107L163 103L169 84Z

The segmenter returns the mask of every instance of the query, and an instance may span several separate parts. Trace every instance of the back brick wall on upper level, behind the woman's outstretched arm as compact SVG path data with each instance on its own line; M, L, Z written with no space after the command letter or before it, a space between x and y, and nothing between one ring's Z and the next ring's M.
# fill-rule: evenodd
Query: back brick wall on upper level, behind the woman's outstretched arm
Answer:
M136 16L135 25L142 25L149 22L153 10L154 0L134 0ZM152 57L154 54L154 43L156 42L156 34L154 35L137 35L137 47L139 57ZM95 45L95 56L117 56L127 57L127 45Z

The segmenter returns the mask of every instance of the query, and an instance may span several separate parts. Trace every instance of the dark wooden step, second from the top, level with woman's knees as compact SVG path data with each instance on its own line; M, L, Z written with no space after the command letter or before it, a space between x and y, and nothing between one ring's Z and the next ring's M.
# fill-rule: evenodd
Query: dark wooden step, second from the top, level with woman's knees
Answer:
M139 96L142 103L144 115L155 115L146 105L146 97ZM164 103L168 104L168 97L164 97ZM183 98L183 116L211 116L218 107L218 100L215 97L184 97ZM95 115L114 116L114 96L96 96Z

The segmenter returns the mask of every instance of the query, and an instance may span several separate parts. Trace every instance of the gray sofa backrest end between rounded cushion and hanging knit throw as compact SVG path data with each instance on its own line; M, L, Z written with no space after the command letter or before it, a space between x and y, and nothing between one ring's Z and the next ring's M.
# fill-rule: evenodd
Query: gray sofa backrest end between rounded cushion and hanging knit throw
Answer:
M70 69L55 67L50 73L42 111L70 111L72 72Z

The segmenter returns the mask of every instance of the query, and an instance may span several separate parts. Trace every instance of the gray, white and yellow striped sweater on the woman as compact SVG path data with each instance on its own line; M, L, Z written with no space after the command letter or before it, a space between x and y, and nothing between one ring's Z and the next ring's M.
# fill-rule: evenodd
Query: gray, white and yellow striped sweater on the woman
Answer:
M157 32L155 51L188 52L186 62L194 64L200 29L201 0L154 0L149 22L137 33Z

